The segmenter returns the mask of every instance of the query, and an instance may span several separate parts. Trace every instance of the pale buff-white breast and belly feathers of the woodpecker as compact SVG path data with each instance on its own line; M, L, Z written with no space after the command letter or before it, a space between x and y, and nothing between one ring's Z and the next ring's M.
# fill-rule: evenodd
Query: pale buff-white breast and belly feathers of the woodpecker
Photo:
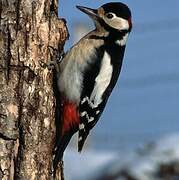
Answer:
M102 40L97 42L93 39L81 40L62 60L58 86L68 100L79 103L83 88L83 73L89 61L96 59L94 49L102 43Z

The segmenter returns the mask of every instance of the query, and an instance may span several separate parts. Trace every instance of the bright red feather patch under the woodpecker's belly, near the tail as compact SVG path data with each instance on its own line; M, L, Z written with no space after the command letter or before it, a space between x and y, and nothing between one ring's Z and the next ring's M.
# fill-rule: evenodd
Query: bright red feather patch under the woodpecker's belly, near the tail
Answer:
M74 103L65 102L62 107L63 112L63 128L62 134L70 131L71 128L77 128L80 123L77 106Z

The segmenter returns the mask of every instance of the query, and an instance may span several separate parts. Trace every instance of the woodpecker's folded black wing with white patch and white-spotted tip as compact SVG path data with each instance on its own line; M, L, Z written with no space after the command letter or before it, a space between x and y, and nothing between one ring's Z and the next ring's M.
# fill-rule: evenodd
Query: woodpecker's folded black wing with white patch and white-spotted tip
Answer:
M93 61L95 63L90 64L90 68L85 71L84 88L79 105L81 122L79 125L78 151L82 150L89 131L99 120L100 115L102 114L107 103L108 97L117 82L118 76L121 71L124 50L125 46L119 48L117 45L110 45L97 49L98 57L96 57L95 61ZM107 76L110 76L108 78L109 84L108 86L104 87L103 94L100 94L101 102L96 106L94 98L91 98L91 96L93 94L93 90L97 80L96 78L100 75L102 66L104 66L103 69L107 69ZM109 73L109 71L111 71L111 74ZM105 73L103 73L103 75L105 75ZM103 76L100 76L100 79L103 79Z

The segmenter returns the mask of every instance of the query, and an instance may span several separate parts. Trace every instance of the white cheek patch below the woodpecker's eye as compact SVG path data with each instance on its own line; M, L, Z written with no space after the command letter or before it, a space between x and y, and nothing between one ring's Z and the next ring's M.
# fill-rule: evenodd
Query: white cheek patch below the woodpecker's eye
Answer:
M106 24L118 30L129 29L129 22L126 19L117 17L115 14L113 14L113 16L114 17L112 19L108 19L107 17L104 17L104 21L106 22Z

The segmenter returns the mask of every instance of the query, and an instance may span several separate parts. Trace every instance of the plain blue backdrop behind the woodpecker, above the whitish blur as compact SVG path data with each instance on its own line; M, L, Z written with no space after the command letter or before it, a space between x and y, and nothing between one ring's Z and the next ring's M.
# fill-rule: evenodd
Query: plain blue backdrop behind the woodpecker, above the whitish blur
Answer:
M71 34L66 48L75 23L92 24L75 5L97 8L106 2L60 1L59 16ZM92 131L91 148L125 148L179 130L179 1L122 2L132 11L134 28L118 84Z

